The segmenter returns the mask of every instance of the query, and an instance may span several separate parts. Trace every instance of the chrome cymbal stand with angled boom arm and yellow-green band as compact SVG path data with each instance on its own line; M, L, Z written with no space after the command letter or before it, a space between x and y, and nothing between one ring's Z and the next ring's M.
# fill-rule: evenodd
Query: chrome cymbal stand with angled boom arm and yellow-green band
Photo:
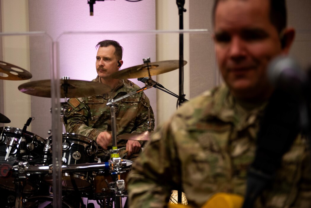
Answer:
M148 61L148 60L146 60ZM144 60L145 62L145 60ZM149 58L150 62L150 58ZM147 62L146 62L147 63ZM148 70L149 72L149 70ZM150 75L150 72L149 72ZM151 76L150 76L151 77ZM112 130L112 150L110 151L110 160L109 160L109 168L110 172L112 172L112 177L114 182L110 183L110 189L114 190L115 198L114 198L114 207L122 208L122 200L121 198L125 196L125 181L121 179L122 167L124 163L122 163L122 159L120 157L120 150L117 147L117 137L116 137L116 118L115 118L115 104L118 101L121 101L125 98L128 98L134 94L137 94L143 90L151 88L153 86L152 82L146 82L145 87L137 90L136 92L132 92L126 94L117 99L111 99L106 104L110 107L110 115L111 115L111 130ZM125 164L126 165L126 164Z

